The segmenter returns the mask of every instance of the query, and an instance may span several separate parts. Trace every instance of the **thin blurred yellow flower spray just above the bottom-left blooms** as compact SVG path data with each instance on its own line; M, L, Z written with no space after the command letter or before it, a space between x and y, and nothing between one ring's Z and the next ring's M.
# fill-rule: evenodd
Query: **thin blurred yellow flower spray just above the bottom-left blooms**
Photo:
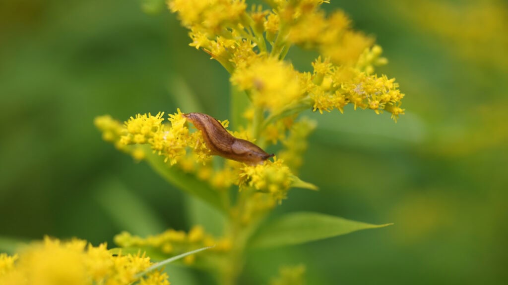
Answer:
M169 256L176 256L207 246L214 246L208 251L211 253L224 253L231 248L229 239L214 239L205 233L201 226L193 227L188 233L169 229L161 234L150 235L146 238L122 232L115 236L114 241L120 247L150 248ZM208 252L203 254L209 254ZM192 264L195 259L195 255L189 255L183 258L183 262Z

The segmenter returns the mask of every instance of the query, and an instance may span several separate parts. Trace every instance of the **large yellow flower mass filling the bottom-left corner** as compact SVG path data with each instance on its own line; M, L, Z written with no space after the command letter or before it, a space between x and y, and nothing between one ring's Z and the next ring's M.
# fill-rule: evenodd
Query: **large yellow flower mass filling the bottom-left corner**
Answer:
M0 284L169 285L168 275L159 271L137 276L150 265L140 254L113 256L105 243L94 247L84 240L46 237L24 248L19 258L0 255Z

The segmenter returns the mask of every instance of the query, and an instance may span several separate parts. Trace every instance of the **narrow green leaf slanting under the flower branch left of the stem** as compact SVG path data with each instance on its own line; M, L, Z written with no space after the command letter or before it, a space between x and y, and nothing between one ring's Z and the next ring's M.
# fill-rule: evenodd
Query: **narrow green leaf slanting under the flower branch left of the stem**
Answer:
M198 180L196 176L185 173L178 167L171 167L164 162L163 157L152 153L148 147L146 147L145 153L148 164L170 184L207 202L220 211L226 211L225 202L221 199L219 192L206 182Z

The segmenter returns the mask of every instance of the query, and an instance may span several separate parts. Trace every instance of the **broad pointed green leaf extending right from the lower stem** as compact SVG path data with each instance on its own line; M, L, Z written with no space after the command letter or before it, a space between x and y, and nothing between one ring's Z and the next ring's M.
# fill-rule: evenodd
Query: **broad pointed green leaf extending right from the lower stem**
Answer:
M266 248L300 244L389 225L392 224L372 225L321 213L295 212L263 226L250 240L250 246Z

